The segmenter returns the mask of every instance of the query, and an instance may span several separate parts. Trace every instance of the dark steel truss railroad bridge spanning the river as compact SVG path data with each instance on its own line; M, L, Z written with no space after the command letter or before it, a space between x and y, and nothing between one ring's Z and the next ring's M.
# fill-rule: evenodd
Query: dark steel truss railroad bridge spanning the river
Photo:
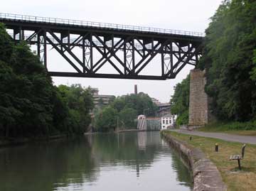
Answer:
M203 33L11 13L0 13L0 22L17 43L25 40L37 46L46 70L49 46L74 69L73 72L48 71L51 76L166 80L175 78L186 65L196 65L202 53ZM75 48L80 48L82 59ZM100 58L95 57L95 52ZM161 75L142 75L158 54L161 63L155 64L161 68ZM107 62L114 71L102 73Z

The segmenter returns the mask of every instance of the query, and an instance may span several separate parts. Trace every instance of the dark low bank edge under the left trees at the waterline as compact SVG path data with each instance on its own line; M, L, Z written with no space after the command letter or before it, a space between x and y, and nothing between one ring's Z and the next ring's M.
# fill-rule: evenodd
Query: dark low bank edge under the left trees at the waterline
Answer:
M18 146L26 143L34 143L40 141L51 141L61 138L68 138L67 135L56 135L56 136L48 136L48 137L35 137L35 138L0 138L0 147L7 146Z

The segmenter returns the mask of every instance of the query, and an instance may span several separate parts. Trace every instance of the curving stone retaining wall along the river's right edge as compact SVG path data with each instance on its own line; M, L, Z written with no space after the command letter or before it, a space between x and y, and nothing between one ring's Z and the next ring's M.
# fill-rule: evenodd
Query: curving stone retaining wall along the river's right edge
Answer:
M188 146L187 143L179 141L174 136L161 131L172 148L180 153L183 160L188 163L193 173L194 191L224 191L227 190L220 172L216 166L206 158L206 155L198 148Z

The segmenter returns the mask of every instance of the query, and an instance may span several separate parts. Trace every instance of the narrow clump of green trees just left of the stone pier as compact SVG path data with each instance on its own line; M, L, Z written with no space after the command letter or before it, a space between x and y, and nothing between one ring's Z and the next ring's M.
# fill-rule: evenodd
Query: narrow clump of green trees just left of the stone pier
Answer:
M188 106L189 106L189 75L181 83L174 87L174 95L171 97L171 114L178 115L176 124L188 124Z

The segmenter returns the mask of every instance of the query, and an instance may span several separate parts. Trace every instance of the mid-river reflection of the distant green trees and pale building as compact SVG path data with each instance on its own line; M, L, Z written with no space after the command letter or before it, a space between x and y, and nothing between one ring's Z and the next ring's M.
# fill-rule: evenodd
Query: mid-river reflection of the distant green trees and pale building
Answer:
M92 152L99 163L122 163L134 169L138 165L149 168L161 148L159 137L146 132L96 134L92 139Z

